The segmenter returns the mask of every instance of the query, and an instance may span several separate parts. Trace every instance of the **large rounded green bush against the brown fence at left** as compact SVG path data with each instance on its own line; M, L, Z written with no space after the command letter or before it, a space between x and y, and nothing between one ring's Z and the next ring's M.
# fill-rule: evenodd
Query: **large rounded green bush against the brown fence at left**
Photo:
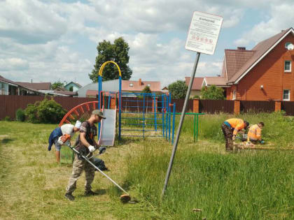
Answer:
M58 123L65 115L66 111L62 105L55 102L53 99L48 100L47 97L41 102L36 102L34 105L29 104L25 109L25 115L29 122L32 123Z

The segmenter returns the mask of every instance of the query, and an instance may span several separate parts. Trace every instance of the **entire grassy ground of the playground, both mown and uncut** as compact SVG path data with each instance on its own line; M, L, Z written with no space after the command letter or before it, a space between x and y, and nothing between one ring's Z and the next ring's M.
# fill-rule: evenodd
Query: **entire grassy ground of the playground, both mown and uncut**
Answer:
M101 156L107 173L140 203L123 205L120 192L97 173L99 196L83 196L84 175L65 200L70 164L55 163L47 151L56 125L0 122L0 219L293 219L294 153L226 153L220 129L231 115L200 117L200 141L193 142L193 117L186 117L166 196L160 199L172 146L161 138L125 138ZM293 118L241 115L265 122L272 147L293 147ZM177 119L179 122L179 118ZM193 209L200 212L193 212Z

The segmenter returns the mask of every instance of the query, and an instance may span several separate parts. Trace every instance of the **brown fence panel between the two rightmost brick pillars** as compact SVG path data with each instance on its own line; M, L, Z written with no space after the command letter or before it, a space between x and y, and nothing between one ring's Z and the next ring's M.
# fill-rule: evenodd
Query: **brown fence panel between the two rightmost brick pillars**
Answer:
M240 101L240 112L274 112L274 101Z

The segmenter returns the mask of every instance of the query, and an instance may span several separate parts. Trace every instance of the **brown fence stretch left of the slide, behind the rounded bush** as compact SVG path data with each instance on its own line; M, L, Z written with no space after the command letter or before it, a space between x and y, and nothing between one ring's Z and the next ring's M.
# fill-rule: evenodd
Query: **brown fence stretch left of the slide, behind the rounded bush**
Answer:
M54 100L62 105L62 108L71 110L71 108L88 101L97 101L97 98L73 98L73 97L53 97ZM36 101L42 101L44 96L6 96L0 95L0 119L9 116L15 119L15 112L18 108L25 109L28 104L34 104Z

